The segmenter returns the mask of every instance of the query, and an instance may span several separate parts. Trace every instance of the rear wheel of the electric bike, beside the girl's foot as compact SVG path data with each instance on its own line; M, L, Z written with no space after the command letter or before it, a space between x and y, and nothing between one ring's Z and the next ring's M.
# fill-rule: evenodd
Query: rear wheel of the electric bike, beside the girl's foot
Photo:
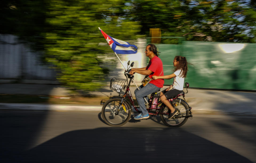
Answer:
M189 116L189 106L185 101L180 99L173 100L173 106L178 110L178 114L176 114L173 118L168 119L167 114L161 114L160 118L162 122L169 127L180 127L186 123ZM175 107L176 106L176 107ZM169 108L165 106L163 108L163 112L168 112Z

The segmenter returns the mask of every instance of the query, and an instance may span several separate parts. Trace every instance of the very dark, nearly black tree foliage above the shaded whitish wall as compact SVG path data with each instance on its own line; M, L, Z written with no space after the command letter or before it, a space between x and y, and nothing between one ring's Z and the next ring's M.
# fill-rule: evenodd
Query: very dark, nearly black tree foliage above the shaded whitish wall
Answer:
M42 50L46 4L44 1L1 0L0 33L18 35L20 40Z

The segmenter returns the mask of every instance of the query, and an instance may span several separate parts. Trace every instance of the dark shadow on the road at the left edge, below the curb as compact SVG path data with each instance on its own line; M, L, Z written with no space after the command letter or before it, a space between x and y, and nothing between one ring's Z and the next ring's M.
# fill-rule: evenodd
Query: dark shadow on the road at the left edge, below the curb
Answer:
M0 162L13 162L10 158L28 149L37 139L49 111L5 111L0 114ZM14 162L20 162L16 160Z

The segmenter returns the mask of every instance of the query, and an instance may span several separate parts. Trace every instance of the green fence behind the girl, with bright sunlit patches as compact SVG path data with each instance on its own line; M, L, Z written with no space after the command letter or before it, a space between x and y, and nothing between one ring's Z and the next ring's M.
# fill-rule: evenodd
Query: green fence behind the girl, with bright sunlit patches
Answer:
M149 43L149 42L147 42ZM155 44L164 74L173 73L173 59L182 55L190 63L185 82L193 88L256 90L256 44L189 42ZM173 79L165 80L165 85Z

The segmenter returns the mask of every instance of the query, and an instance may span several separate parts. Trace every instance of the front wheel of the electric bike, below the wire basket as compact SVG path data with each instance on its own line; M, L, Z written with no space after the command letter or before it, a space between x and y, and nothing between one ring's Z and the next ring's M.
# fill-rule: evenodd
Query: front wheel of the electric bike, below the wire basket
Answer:
M122 126L126 124L131 117L131 106L123 100L119 105L121 99L109 99L102 106L102 119L110 126ZM119 112L118 112L119 109Z

